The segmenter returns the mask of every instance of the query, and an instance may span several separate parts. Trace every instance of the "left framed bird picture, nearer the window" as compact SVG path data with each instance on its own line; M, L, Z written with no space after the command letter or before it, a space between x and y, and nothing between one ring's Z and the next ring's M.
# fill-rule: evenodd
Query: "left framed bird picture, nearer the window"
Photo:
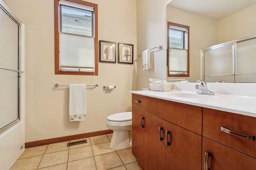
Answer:
M116 63L116 43L100 40L100 62Z

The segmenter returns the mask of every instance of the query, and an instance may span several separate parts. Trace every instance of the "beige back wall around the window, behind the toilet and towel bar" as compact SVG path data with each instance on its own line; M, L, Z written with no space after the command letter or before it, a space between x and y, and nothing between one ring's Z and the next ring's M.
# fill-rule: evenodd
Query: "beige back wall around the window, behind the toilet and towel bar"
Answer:
M136 60L136 0L88 0L98 4L99 40L134 45ZM54 74L54 1L4 0L25 24L26 142L106 130L106 117L131 111L130 90L136 90L136 62L99 63L98 76ZM94 84L86 89L86 120L68 120L68 87L54 84ZM116 89L103 90L103 85Z

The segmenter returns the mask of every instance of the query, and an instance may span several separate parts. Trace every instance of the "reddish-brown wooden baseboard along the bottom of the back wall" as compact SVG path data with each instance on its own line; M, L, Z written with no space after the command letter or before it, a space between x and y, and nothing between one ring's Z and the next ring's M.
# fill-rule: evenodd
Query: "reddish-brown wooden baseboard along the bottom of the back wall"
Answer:
M59 143L59 142L65 142L65 141L72 141L76 139L82 139L82 138L88 138L88 137L94 137L98 135L106 135L113 133L112 130L104 130L104 131L96 131L96 132L90 132L90 133L82 133L78 135L71 135L71 136L65 136L65 137L57 137L52 139L44 139L40 141L33 141L33 142L26 142L25 148L31 148L31 147L38 147L42 145L49 145L52 143Z

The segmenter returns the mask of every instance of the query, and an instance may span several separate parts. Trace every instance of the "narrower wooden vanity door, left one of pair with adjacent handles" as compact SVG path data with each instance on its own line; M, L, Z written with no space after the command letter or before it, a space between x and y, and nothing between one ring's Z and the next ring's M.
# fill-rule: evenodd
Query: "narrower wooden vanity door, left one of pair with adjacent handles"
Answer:
M165 121L159 117L146 113L145 122L145 170L164 170Z

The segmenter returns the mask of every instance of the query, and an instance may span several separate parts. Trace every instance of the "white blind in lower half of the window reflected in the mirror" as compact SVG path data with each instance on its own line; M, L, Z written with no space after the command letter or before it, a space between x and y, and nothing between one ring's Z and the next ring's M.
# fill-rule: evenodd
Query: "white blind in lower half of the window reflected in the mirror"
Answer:
M170 71L187 72L188 51L170 48Z

